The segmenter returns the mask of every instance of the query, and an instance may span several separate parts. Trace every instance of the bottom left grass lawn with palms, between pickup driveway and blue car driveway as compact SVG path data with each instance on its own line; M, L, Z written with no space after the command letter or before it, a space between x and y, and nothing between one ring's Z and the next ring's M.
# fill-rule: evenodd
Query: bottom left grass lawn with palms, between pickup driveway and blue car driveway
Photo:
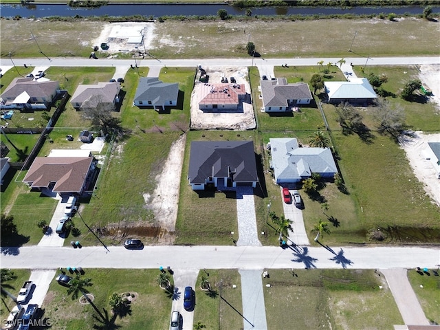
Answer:
M91 269L85 272L84 277L91 278L91 283L94 283L87 288L94 295L94 304L101 311L108 311L109 318L112 316L109 298L113 292L135 294L135 300L130 305L131 315L118 317L115 325L127 330L168 329L172 300L157 284L157 270ZM43 302L45 317L52 320L52 327L76 330L91 329L92 325L102 326L93 318L96 315L94 309L90 305L80 305L78 299L72 300L67 296L65 287L52 281Z

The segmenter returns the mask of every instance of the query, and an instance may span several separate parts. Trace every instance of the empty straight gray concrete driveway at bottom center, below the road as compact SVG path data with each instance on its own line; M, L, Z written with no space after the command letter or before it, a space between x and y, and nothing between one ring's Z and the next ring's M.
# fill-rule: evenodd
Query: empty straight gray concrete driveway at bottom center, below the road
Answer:
M239 270L241 301L243 302L243 330L267 329L264 305L263 270Z

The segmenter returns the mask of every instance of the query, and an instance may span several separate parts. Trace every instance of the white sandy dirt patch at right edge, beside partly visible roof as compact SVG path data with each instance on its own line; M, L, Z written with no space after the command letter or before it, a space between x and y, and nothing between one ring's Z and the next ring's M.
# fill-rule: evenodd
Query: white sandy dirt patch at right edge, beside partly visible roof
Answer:
M440 179L432 160L426 158L429 148L428 142L440 142L440 133L424 134L417 131L414 137L401 142L401 148L406 152L406 157L415 176L423 182L426 193L440 206Z

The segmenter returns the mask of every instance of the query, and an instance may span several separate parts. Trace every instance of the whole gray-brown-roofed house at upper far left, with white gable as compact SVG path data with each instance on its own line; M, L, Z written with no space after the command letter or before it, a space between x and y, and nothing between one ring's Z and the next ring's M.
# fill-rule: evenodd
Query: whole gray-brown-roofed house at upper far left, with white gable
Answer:
M48 109L59 89L58 81L14 78L0 95L0 109Z

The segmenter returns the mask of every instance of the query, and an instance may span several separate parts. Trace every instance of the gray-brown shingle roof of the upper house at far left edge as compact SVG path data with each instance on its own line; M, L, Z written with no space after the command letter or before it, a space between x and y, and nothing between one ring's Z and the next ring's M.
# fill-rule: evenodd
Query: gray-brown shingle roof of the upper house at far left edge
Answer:
M14 78L1 94L3 100L17 98L25 91L31 98L46 98L50 100L56 89L59 89L58 81L36 81L32 78Z

